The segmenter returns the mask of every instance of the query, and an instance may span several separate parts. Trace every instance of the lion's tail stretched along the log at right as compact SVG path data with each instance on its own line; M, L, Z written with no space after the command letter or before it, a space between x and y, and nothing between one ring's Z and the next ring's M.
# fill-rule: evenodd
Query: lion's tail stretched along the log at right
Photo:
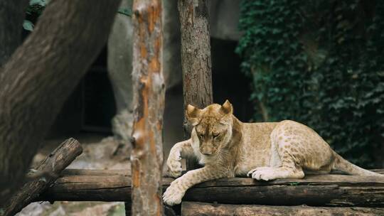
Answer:
M356 166L355 164L347 161L343 157L339 156L338 153L334 152L335 161L334 161L334 169L338 171L342 171L349 175L370 175L370 176L383 176L379 173L374 173L372 171L367 171L361 167Z

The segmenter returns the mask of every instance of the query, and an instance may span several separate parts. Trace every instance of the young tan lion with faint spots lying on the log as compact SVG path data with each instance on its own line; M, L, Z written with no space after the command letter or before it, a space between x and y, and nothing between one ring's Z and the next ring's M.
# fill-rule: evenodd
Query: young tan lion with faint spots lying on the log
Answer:
M380 175L341 158L319 134L296 121L242 123L228 100L204 109L188 105L191 139L171 148L167 166L181 175L181 158L195 157L204 167L174 180L163 195L167 205L181 202L188 188L206 180L250 175L256 180L304 178L304 172L338 169L353 175Z

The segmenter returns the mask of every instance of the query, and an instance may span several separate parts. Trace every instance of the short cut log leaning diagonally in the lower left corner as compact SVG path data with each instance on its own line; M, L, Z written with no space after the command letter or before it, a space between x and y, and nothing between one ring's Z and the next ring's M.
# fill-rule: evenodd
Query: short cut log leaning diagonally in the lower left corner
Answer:
M60 144L34 169L33 175L37 173L41 176L25 183L18 193L5 203L4 216L15 215L23 207L36 199L40 193L55 182L60 172L69 166L81 153L80 143L75 139L67 139ZM0 215L2 215L1 212Z

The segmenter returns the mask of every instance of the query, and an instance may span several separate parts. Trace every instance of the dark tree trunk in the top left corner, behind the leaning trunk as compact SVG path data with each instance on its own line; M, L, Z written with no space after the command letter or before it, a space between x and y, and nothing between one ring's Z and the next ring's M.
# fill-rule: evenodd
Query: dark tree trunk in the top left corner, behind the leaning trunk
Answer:
M28 0L0 1L0 68L21 43Z

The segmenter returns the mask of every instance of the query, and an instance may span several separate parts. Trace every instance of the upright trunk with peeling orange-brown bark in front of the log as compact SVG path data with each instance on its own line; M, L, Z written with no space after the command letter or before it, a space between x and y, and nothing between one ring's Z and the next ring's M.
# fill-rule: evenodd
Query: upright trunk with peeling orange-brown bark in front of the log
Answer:
M134 0L132 215L162 215L163 114L160 0Z

